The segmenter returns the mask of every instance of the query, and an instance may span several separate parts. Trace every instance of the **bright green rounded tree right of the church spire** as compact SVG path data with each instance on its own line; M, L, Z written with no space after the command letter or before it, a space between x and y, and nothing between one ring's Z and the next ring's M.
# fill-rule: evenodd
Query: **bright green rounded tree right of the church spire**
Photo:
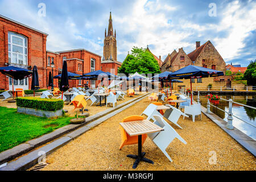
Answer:
M131 55L127 55L122 66L118 69L118 73L160 73L158 61L155 60L152 53L144 48L133 47Z

